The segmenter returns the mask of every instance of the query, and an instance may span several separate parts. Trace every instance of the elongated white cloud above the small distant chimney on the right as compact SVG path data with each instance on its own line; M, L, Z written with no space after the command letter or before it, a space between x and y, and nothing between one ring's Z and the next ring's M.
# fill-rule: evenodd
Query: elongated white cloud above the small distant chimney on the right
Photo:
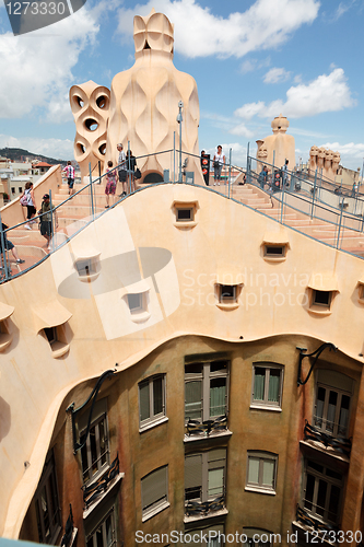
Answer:
M253 116L272 118L283 113L291 118L315 116L324 112L337 112L355 106L351 96L344 71L341 68L330 74L321 74L309 84L292 86L286 92L285 103L277 100L268 105L263 102L243 105L235 112L236 116L250 119Z

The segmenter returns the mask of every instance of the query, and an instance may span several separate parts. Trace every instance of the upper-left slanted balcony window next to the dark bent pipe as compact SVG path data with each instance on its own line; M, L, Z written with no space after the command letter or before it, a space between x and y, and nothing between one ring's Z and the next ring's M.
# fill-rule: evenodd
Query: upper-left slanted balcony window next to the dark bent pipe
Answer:
M95 404L92 419L86 443L81 449L84 484L102 475L109 466L106 399L101 399ZM89 412L85 412L79 419L80 440L86 433L87 421Z

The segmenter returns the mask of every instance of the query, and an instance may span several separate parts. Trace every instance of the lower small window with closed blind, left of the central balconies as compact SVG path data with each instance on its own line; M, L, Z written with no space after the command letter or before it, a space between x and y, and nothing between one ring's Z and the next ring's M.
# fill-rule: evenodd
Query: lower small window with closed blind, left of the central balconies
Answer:
M160 467L141 479L142 521L154 516L168 503L168 466Z

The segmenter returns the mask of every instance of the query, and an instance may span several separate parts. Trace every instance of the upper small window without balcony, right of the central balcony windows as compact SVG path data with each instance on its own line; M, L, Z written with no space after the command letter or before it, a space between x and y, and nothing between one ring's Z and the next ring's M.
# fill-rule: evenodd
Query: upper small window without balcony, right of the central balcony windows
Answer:
M256 363L253 366L251 406L281 408L283 368L274 364Z

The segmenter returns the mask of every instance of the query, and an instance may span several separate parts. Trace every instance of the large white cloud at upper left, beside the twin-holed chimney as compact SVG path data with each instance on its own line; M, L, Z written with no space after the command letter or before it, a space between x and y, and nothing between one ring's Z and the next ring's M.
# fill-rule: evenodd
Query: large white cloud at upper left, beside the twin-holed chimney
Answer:
M36 107L46 107L46 118L62 123L70 118L68 92L72 69L80 53L95 42L96 12L82 8L70 19L44 30L0 36L1 112L0 117L20 118Z

